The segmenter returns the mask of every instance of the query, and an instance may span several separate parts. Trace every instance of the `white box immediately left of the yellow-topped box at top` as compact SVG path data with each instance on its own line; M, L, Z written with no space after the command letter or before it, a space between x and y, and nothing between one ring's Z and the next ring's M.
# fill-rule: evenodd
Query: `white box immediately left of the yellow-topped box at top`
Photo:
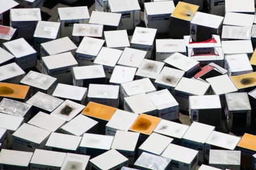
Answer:
M147 28L155 28L158 33L168 33L170 17L175 6L173 1L144 3L144 22Z

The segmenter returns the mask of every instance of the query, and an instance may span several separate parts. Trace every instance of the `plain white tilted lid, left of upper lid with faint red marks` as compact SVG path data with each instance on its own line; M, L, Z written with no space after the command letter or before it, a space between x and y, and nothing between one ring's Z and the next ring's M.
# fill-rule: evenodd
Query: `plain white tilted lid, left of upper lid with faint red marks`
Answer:
M122 50L102 47L93 63L114 67L122 54Z

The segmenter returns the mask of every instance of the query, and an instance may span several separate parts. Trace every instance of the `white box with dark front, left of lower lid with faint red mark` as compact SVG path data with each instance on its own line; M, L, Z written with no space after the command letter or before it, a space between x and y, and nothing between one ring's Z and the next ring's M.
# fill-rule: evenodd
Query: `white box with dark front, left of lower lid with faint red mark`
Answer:
M88 88L89 83L105 84L105 82L106 74L102 65L73 67L74 86Z

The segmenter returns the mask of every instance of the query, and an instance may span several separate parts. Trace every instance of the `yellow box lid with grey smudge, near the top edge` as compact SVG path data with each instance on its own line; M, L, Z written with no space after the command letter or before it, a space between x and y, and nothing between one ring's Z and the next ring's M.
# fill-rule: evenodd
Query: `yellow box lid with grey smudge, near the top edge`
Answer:
M182 20L191 21L199 6L179 1L171 16Z

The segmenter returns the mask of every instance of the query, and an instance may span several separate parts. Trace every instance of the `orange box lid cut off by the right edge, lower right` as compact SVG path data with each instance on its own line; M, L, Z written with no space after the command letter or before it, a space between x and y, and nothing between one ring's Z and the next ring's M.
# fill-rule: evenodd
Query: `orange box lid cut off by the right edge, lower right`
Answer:
M237 146L256 151L256 136L248 133L243 134Z

